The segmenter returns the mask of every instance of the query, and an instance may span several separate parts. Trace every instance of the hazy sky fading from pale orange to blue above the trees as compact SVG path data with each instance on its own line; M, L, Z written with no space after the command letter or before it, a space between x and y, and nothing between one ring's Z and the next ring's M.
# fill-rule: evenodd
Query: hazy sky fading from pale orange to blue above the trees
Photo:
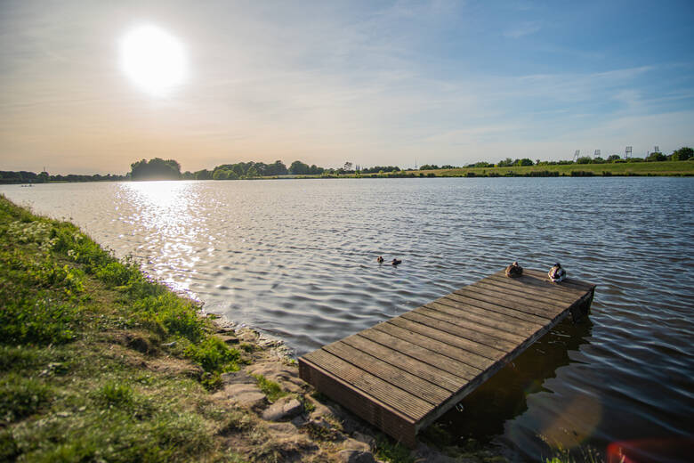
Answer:
M463 166L627 145L694 145L691 0L0 0L0 170Z

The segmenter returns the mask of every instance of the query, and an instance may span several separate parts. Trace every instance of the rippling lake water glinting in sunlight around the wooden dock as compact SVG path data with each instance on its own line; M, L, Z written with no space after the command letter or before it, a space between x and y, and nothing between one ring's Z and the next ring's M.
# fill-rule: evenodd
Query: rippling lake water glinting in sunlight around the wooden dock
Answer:
M691 438L694 179L398 179L3 186L301 355L513 260L598 284L440 424L538 460ZM375 257L403 260L398 268ZM654 460L666 460L661 451ZM688 455L690 457L690 455Z

